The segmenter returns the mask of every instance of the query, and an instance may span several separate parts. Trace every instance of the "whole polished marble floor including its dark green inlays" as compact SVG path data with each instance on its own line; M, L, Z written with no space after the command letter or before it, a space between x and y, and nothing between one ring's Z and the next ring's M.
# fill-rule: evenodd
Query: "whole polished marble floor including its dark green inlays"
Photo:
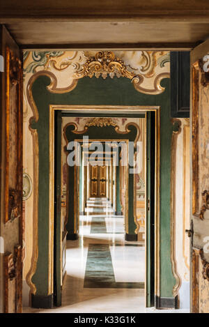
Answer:
M97 211L81 215L79 239L67 241L62 306L24 312L185 312L145 308L144 245L124 240L123 216Z

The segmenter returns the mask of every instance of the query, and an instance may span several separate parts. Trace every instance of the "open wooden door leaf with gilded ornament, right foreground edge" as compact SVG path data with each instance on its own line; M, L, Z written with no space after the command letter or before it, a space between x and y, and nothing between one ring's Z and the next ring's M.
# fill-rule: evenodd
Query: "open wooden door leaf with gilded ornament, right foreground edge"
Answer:
M209 40L191 52L191 311L209 312Z

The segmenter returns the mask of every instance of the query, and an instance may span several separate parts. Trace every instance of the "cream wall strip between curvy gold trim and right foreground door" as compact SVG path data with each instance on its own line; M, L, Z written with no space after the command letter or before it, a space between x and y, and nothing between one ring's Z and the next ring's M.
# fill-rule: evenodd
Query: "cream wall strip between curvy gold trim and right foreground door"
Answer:
M180 276L180 307L189 308L189 120L181 121L176 143L175 254L176 271Z

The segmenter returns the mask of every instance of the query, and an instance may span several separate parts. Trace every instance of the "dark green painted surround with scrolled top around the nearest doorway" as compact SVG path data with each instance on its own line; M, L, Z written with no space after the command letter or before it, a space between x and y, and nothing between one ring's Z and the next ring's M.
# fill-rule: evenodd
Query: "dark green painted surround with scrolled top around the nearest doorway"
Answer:
M33 282L37 294L47 295L48 229L49 229L49 104L53 105L160 105L160 282L161 296L171 297L175 284L170 260L170 171L171 135L169 79L162 94L150 96L137 92L129 79L80 79L70 93L55 94L47 91L49 77L38 77L32 93L39 112L39 208L38 208L38 264Z

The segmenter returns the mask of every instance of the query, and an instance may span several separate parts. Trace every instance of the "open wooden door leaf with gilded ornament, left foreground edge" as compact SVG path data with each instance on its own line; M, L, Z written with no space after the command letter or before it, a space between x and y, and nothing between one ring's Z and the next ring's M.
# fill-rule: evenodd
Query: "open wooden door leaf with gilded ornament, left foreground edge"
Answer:
M22 312L22 55L2 25L0 47L4 66L0 86L1 311Z

